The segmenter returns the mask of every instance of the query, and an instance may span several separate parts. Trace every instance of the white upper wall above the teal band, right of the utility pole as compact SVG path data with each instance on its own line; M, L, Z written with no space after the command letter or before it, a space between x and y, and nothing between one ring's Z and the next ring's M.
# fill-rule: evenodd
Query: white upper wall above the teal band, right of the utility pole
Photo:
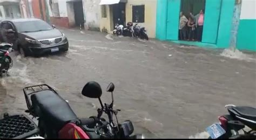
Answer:
M255 0L242 0L240 19L256 19Z

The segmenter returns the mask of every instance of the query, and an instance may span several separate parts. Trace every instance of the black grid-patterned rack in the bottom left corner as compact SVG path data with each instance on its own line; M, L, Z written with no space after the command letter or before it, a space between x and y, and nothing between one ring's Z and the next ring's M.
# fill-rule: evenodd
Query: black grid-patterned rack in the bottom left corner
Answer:
M4 114L4 118L0 120L0 139L21 139L38 134L37 125L24 114Z

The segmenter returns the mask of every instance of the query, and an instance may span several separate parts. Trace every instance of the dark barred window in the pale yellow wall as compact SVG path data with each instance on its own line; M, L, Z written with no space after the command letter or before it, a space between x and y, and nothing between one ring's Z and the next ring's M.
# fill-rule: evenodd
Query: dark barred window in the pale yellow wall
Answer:
M145 17L145 5L133 5L132 6L132 22L133 23L144 23Z

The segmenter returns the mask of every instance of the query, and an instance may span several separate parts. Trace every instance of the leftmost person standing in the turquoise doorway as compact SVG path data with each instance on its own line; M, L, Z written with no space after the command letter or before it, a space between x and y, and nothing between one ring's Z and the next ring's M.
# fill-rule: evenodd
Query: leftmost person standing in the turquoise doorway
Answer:
M179 39L185 40L186 39L186 24L188 22L187 18L184 16L184 13L181 11L179 19Z

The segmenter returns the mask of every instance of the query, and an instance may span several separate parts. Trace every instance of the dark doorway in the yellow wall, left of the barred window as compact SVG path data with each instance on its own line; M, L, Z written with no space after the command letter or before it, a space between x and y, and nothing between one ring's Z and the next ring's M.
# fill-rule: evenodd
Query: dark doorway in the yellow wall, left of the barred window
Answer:
M113 29L115 24L124 25L125 26L125 4L126 3L118 3L112 5L113 11Z

